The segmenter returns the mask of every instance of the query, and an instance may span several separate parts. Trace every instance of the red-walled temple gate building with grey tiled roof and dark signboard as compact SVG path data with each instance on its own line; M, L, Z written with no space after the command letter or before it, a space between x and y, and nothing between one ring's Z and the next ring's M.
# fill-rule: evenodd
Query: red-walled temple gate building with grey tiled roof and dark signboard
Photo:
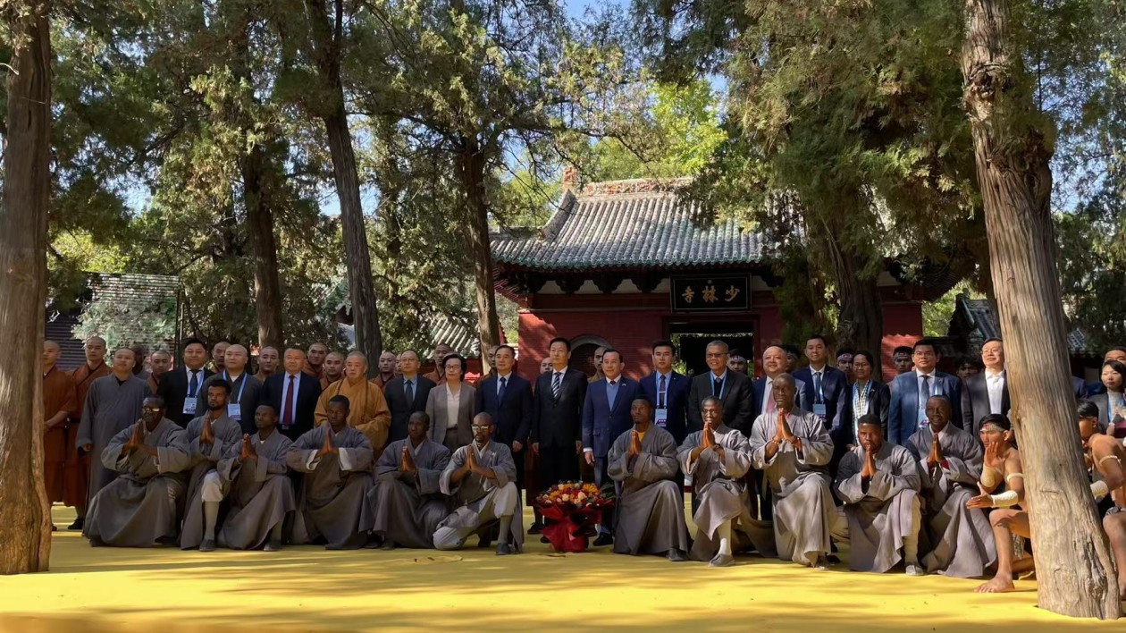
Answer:
M494 235L498 292L517 301L519 371L538 373L548 341L572 341L572 366L593 372L593 351L613 346L626 374L651 371L650 345L676 336L690 368L704 369L704 347L721 338L749 359L781 342L766 244L734 221L704 222L678 198L678 181L623 180L566 190L538 230ZM922 302L951 285L904 285L879 277L885 376L891 351L922 333ZM802 344L804 341L794 341Z

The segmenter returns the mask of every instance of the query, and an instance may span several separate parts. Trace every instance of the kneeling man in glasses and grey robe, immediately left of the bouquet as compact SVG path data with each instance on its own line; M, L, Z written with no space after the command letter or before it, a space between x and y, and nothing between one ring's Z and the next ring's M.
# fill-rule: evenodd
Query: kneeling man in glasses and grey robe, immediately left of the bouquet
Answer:
M438 525L434 546L457 550L473 534L488 541L488 532L499 523L497 555L524 549L524 521L516 488L516 462L508 446L492 440L489 413L473 418L473 443L454 452L441 472L439 488L454 498L454 511Z

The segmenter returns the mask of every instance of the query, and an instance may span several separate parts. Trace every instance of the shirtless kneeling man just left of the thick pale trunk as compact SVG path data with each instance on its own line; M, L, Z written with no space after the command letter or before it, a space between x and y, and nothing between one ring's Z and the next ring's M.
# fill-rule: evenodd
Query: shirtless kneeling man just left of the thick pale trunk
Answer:
M997 576L977 587L978 594L1012 591L1013 572L1033 569L1033 556L1013 562L1012 535L1031 538L1028 526L1028 502L1025 499L1025 475L1020 469L1020 452L1012 445L1012 425L1001 413L991 413L981 420L981 440L985 445L982 479L977 483L981 492L966 502L968 508L995 508L989 520L993 526L993 542L997 543ZM1004 492L993 491L1004 487Z

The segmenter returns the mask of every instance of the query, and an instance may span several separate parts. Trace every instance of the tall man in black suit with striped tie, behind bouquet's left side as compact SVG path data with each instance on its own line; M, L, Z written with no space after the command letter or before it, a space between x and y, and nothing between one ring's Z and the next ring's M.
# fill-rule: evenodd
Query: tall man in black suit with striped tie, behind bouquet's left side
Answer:
M587 376L568 368L571 341L557 337L547 348L552 368L536 380L533 394L531 449L539 455L539 485L579 479L582 454L582 403Z

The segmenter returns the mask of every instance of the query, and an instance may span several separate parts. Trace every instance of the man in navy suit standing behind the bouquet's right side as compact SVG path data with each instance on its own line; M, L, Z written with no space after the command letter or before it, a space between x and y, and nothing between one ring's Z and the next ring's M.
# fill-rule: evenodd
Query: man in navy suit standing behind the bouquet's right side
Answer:
M607 349L602 354L602 380L590 383L582 404L582 453L595 467L595 485L610 481L606 456L610 444L633 428L629 408L637 398L637 382L622 375L622 353ZM595 546L614 543L614 512L605 512L598 526Z

